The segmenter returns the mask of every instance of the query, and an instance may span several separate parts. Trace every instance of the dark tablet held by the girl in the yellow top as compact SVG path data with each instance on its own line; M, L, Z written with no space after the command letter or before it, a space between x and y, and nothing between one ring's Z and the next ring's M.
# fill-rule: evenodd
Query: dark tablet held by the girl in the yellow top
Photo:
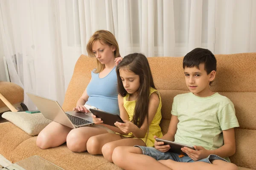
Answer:
M124 121L121 119L121 117L118 114L99 111L96 109L90 109L90 112L92 112L96 117L99 117L100 119L102 119L103 123L106 125L115 126L114 125L115 122L124 123Z

